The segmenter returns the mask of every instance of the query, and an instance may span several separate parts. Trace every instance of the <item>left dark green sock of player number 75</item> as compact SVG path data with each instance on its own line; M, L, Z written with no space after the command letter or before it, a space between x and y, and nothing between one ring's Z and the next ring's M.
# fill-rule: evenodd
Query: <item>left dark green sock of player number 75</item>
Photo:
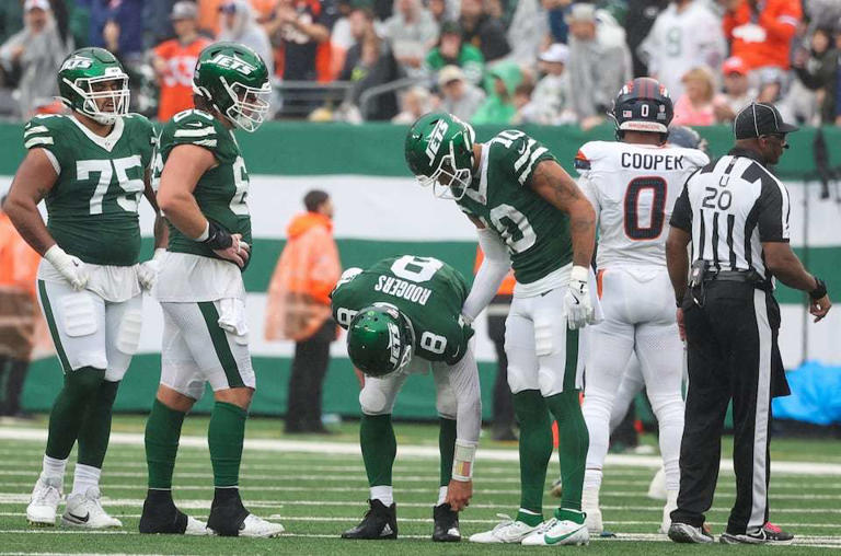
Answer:
M105 370L93 367L82 367L65 374L65 385L56 396L49 414L48 456L67 460L70 455L88 406L104 378Z

